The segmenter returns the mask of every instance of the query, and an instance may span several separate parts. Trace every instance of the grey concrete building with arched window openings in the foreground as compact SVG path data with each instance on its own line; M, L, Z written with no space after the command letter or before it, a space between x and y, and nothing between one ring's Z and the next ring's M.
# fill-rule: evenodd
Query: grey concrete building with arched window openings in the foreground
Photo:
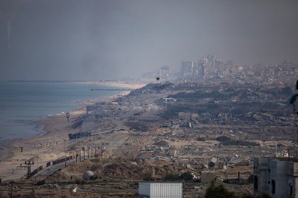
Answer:
M287 158L284 158L287 159ZM298 198L298 163L272 158L254 159L254 196Z

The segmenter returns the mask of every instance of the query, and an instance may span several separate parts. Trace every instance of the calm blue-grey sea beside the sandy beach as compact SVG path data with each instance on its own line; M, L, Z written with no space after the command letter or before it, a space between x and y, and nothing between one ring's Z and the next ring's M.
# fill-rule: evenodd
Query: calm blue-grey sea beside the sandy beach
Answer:
M43 134L34 120L83 106L79 100L118 95L119 91L89 91L108 86L76 83L0 82L0 143ZM114 88L115 89L115 88Z

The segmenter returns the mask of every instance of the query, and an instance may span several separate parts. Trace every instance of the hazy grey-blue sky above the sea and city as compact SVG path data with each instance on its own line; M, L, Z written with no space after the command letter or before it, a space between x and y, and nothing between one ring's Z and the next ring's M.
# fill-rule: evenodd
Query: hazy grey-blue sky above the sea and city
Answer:
M298 1L0 0L0 80L134 78L207 54L298 63Z

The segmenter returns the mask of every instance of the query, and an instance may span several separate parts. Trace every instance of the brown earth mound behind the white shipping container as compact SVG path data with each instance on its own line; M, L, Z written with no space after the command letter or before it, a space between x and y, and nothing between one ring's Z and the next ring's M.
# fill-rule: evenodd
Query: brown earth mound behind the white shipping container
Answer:
M169 162L157 161L150 163L143 161L137 164L122 156L113 156L110 158L92 158L84 162L73 163L65 169L55 173L49 179L53 180L75 180L81 179L82 174L86 171L92 171L99 179L133 179L142 180L151 175L151 169L154 167L155 178L164 177L172 173Z

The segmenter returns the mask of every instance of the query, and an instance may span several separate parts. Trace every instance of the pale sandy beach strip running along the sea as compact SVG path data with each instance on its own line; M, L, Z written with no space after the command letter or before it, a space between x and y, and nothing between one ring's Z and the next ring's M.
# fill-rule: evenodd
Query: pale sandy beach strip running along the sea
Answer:
M125 84L123 82L87 82L94 84L102 84L107 86L122 87L137 89L143 87L144 84ZM126 92L125 94L128 94ZM114 97L108 96L101 99L89 99L80 101L85 105L90 105L98 101L111 101ZM64 148L70 148L75 145L74 141L64 141L69 140L68 134L75 133L72 128L72 124L80 114L85 113L85 107L76 109L70 112L70 122L67 122L65 114L58 114L53 116L48 116L47 119L37 120L36 123L44 125L45 135L36 136L32 138L26 138L18 141L13 141L3 145L7 149L0 151L0 179L2 181L9 179L19 179L24 174L26 170L22 168L19 170L17 166L21 164L24 166L25 161L32 159L35 161L34 165L31 167L31 171L39 166L43 165L46 167L48 161L55 160L61 156L65 155ZM21 152L20 147L23 147L23 152ZM75 146L74 146L75 147ZM67 153L72 154L72 153ZM38 161L38 165L37 165Z

